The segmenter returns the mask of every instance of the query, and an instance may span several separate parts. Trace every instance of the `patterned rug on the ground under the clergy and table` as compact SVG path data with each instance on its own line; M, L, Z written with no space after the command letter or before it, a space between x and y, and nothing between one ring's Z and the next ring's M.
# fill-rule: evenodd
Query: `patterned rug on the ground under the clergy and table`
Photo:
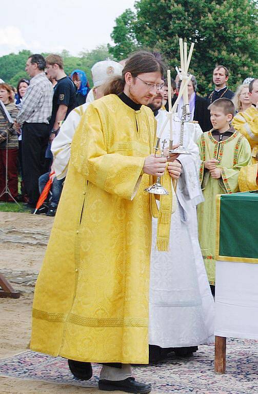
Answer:
M226 373L214 373L214 346L200 346L192 357L170 358L152 366L133 367L133 375L152 384L152 393L178 394L257 394L258 341L229 339L227 341ZM93 364L90 381L82 382L71 375L67 361L33 351L0 360L0 376L40 380L97 388L101 366Z

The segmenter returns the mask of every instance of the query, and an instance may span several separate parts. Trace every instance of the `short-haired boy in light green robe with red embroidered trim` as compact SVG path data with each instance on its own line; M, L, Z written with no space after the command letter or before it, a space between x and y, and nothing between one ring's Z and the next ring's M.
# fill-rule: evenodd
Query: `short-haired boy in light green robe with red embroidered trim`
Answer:
M242 167L251 163L251 149L245 137L230 126L234 105L218 99L210 106L213 129L203 133L198 144L202 160L200 181L205 201L197 207L199 240L208 279L215 284L216 194L239 191Z

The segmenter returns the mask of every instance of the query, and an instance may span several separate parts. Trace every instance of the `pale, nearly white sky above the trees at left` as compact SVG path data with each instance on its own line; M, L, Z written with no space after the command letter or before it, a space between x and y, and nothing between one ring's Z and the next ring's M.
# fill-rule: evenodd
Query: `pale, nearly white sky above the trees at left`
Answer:
M9 0L1 5L0 56L68 50L78 55L111 43L115 18L135 0Z

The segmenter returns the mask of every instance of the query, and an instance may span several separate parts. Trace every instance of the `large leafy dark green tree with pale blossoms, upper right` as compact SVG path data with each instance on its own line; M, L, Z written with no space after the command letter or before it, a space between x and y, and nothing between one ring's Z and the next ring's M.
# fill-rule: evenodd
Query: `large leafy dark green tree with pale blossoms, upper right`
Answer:
M160 51L174 68L180 65L178 38L182 37L195 43L190 71L199 91L205 94L212 89L212 71L218 64L229 69L229 86L234 90L245 77L258 74L256 4L255 0L140 0L131 20L122 24L122 16L130 16L128 10L116 19L111 35L115 46L109 51L123 57L125 41L132 37L131 51L135 42L137 47Z

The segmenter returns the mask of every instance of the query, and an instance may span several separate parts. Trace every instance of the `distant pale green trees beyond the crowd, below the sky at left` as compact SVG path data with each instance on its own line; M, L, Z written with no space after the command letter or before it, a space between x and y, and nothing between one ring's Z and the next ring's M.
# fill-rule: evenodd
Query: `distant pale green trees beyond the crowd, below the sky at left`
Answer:
M45 57L48 54L42 53ZM65 49L60 54L64 59L65 72L69 75L75 69L85 71L90 86L92 86L91 67L96 62L105 60L107 57L113 58L105 45L98 46L92 51L84 50L80 53L80 56L72 56ZM30 51L23 50L17 54L10 53L9 55L0 57L0 78L13 86L17 86L19 79L28 78L28 74L24 69L30 55Z

